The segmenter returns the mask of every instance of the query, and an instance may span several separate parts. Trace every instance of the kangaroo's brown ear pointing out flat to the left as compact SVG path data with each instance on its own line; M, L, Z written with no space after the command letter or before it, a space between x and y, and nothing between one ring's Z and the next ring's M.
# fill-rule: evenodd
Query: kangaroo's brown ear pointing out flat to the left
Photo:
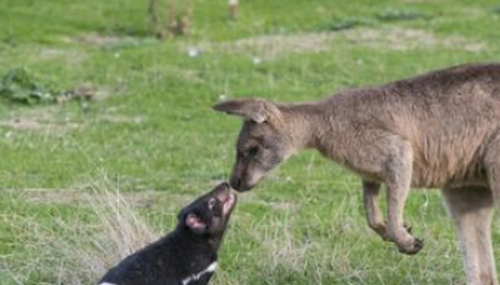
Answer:
M262 99L241 99L225 101L213 106L219 112L241 116L256 123L279 119L281 111L276 105Z

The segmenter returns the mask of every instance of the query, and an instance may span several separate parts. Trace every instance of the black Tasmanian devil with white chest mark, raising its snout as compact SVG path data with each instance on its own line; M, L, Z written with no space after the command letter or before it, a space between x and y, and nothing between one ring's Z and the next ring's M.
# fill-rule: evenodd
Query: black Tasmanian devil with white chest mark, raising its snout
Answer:
M182 209L173 232L125 258L98 284L208 284L236 201L227 183L218 185Z

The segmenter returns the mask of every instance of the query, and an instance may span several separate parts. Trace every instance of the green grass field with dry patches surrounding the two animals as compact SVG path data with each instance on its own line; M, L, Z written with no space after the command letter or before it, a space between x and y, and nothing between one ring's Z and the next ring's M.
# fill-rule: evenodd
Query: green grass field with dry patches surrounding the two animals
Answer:
M242 0L234 22L227 1L191 3L191 34L158 40L146 1L0 0L0 77L93 96L0 95L1 285L90 285L171 229L229 175L241 122L211 110L221 98L315 100L500 60L497 1ZM213 284L464 284L439 192L414 191L406 220L425 240L412 257L368 228L355 176L303 152L240 195Z

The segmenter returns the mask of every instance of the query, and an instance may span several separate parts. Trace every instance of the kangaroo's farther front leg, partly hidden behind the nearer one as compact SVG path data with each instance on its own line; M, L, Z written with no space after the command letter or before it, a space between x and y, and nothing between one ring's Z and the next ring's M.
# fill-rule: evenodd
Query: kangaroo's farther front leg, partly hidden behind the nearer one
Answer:
M384 240L388 240L384 217L378 205L380 183L363 180L363 204L368 225Z

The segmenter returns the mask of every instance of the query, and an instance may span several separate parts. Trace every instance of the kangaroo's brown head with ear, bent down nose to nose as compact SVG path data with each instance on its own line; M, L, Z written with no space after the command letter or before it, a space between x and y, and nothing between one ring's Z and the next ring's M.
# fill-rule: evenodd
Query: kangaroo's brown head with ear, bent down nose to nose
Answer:
M285 114L275 104L261 99L242 99L222 102L213 108L245 119L230 179L231 187L237 191L253 188L267 172L292 154Z

